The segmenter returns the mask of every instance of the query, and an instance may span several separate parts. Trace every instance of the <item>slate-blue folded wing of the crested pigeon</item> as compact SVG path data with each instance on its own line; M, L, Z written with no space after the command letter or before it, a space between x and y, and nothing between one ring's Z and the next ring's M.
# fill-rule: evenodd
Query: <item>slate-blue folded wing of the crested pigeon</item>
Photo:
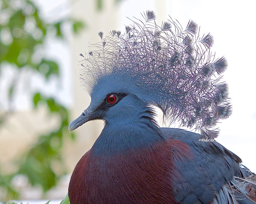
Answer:
M186 143L192 151L186 161L175 162L178 175L174 191L178 203L256 203L256 184L252 179L255 174L240 164L242 160L238 156L216 141L199 142L200 135L196 133L175 128L162 128L162 131Z

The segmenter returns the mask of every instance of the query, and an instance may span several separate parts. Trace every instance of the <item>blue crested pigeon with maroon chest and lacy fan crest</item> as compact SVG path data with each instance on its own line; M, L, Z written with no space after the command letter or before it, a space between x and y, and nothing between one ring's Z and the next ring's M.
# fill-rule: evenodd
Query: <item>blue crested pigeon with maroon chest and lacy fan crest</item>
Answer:
M129 19L124 33L99 32L80 54L91 103L68 129L90 120L104 128L71 175L70 204L256 203L255 174L215 141L232 106L212 35L192 20L157 25L154 11Z

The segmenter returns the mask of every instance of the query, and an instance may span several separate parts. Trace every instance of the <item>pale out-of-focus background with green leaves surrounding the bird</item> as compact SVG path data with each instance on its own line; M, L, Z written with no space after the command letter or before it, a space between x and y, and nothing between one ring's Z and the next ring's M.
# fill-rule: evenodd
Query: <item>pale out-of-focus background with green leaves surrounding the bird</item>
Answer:
M68 124L89 105L80 84L80 53L98 32L124 32L126 17L154 10L211 33L225 55L233 114L218 142L256 171L255 2L203 0L0 0L0 200L63 199L70 175L103 127ZM160 125L162 121L159 119ZM30 202L32 203L32 202ZM44 203L44 201L38 202Z

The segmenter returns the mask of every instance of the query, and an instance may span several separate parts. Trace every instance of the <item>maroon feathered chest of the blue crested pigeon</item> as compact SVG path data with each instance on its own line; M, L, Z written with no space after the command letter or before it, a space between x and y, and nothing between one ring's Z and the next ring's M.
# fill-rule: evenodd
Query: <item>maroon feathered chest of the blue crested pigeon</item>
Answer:
M170 154L163 148L105 157L87 152L72 174L70 203L175 203Z

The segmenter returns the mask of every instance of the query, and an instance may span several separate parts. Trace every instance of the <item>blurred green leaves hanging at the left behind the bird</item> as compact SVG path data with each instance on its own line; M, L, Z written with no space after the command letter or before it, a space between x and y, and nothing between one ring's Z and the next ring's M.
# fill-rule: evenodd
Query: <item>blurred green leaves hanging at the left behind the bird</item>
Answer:
M46 38L66 40L63 32L64 25L71 25L72 33L78 33L84 28L84 23L70 18L60 19L48 23L41 16L36 5L29 0L0 0L0 74L4 64L11 64L19 75L19 71L26 68L33 73L39 73L46 82L50 76L60 79L59 65L52 59L41 56L35 60L35 53L44 48ZM17 80L14 78L8 86L9 110L0 115L0 124L4 124L7 116L12 113L12 102L15 99ZM68 132L68 110L54 98L44 96L42 93L33 93L31 99L34 107L39 104L48 108L49 115L54 114L60 120L59 126L49 134L39 135L38 141L17 159L18 170L9 175L2 175L0 171L0 191L6 201L18 199L19 192L12 185L15 175L23 175L32 186L41 186L46 192L66 174L66 168L61 157L62 142L65 137L74 138ZM1 107L0 107L1 108ZM55 172L53 165L58 164L62 171ZM1 170L1 169L0 169ZM1 193L0 193L1 194ZM0 195L1 196L1 195ZM3 196L3 195L2 195Z

